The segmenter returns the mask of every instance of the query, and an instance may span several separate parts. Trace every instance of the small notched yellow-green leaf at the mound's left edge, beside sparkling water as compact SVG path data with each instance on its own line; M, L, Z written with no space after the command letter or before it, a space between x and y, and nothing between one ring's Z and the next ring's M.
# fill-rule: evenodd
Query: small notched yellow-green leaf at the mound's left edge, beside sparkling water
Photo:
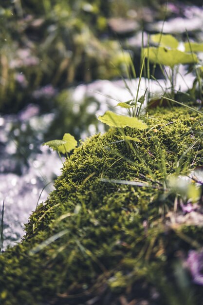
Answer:
M43 145L49 146L54 151L67 153L71 152L77 146L77 141L75 140L73 135L71 135L70 133L65 133L62 140L48 141Z

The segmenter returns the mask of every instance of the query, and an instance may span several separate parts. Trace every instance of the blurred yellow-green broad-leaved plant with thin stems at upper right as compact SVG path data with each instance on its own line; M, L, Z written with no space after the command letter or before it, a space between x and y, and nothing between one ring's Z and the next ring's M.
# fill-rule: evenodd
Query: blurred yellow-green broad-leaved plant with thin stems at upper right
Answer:
M175 97L176 91L174 87L180 65L190 64L187 69L188 73L194 70L196 78L193 87L188 91L188 93L192 99L197 99L195 93L197 87L199 87L198 91L202 97L203 78L201 74L200 59L195 53L203 52L203 43L190 42L188 38L188 42L183 44L185 51L180 51L178 49L180 42L172 35L163 33L151 35L151 42L157 46L148 46L143 49L143 53L147 57L148 61L154 64L154 67L159 65L165 78L170 80L171 91L168 96L171 98ZM166 72L164 66L169 67L169 72Z

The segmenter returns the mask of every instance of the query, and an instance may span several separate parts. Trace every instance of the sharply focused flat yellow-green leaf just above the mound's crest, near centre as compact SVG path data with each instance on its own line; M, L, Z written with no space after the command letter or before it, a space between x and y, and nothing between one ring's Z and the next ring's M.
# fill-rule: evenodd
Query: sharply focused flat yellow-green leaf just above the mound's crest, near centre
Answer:
M109 126L121 127L126 126L137 129L146 129L148 125L137 117L125 116L120 114L115 114L112 111L107 111L104 115L98 117L98 119Z

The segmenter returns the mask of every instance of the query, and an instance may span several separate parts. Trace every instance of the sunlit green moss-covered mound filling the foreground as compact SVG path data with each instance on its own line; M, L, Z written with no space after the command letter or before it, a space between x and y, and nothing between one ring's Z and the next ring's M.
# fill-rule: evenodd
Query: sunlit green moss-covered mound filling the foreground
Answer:
M168 217L182 211L167 187L203 164L201 119L156 109L148 130L125 129L140 142L111 129L77 148L22 242L0 255L0 304L202 304L184 261L203 229Z

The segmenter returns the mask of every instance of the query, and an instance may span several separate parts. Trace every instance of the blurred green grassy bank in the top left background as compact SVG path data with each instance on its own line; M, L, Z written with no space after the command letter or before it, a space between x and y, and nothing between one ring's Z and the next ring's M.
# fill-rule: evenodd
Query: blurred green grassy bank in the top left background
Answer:
M107 18L130 1L0 1L0 111L17 111L46 85L112 78L125 70Z

